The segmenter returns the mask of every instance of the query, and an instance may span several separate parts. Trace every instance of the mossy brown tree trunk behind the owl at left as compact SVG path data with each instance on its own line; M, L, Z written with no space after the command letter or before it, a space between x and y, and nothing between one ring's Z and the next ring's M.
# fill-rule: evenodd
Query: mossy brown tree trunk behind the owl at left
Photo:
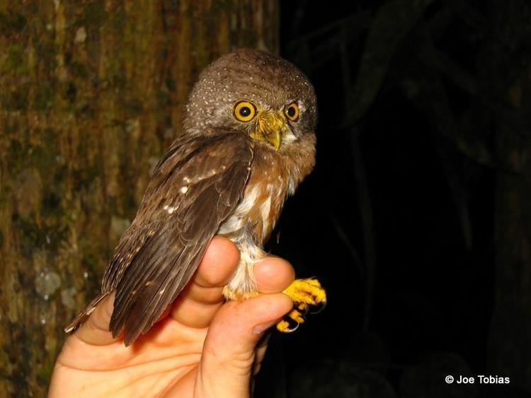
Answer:
M200 69L278 49L274 0L0 4L0 396L42 397Z

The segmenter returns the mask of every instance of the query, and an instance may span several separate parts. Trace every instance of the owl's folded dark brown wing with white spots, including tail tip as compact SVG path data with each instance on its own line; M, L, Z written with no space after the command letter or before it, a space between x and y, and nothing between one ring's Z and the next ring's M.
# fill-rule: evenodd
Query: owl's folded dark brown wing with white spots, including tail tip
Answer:
M102 293L93 300L97 304L116 290L109 329L113 336L123 329L126 346L152 327L190 281L219 225L241 199L252 159L248 136L222 131L178 139L159 161L105 270ZM90 312L89 305L84 317ZM67 329L74 329L76 320Z

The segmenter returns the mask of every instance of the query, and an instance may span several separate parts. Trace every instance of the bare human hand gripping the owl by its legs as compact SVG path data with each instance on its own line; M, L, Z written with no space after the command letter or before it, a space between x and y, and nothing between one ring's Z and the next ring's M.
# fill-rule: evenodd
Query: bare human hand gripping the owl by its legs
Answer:
M103 300L64 343L49 397L249 397L266 349L257 344L292 308L280 292L295 272L266 257L254 267L263 294L225 303L238 260L236 246L215 237L178 300L129 347L108 331L114 295Z

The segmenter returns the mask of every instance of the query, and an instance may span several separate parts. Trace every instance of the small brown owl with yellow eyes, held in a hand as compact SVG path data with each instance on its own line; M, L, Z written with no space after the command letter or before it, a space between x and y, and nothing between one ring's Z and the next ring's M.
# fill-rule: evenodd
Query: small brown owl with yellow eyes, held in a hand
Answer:
M241 253L224 296L256 295L253 265L265 257L285 199L314 167L316 119L312 84L285 59L240 49L207 66L190 93L182 134L156 165L110 259L101 293L65 332L116 291L109 329L113 336L123 331L129 346L183 291L214 235ZM281 332L326 303L316 279L297 279L284 293L295 306L278 323Z

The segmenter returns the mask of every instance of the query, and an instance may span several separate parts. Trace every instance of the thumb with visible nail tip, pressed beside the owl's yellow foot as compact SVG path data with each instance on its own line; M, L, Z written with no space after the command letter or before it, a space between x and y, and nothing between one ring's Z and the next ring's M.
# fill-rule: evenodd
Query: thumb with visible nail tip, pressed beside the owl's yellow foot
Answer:
M291 310L283 293L222 305L210 324L196 379L199 397L249 397L256 344Z

